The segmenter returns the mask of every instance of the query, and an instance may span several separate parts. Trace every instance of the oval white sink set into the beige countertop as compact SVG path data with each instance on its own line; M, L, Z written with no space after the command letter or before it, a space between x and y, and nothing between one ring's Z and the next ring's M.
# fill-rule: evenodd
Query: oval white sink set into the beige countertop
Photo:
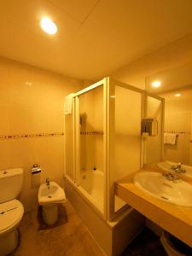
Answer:
M192 207L192 185L183 180L169 181L160 172L137 172L134 183L138 189L161 201Z

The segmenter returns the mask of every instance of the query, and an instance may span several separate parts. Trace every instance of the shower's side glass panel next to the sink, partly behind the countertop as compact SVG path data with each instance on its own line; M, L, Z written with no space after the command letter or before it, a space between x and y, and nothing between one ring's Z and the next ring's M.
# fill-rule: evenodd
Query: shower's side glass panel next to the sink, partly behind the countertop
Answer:
M115 180L140 168L141 104L141 93L115 86ZM115 212L124 205L115 196Z

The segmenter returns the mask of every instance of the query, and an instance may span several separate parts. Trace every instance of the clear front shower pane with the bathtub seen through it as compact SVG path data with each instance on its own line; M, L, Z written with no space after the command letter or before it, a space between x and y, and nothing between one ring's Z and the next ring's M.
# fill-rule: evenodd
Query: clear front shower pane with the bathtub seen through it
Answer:
M103 212L103 86L79 96L80 186Z

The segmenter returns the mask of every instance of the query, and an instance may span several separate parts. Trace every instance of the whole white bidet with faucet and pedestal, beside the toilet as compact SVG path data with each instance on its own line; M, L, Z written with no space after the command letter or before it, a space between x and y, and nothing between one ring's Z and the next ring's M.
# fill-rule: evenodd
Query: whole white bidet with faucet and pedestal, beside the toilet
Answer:
M49 225L56 223L58 219L58 204L66 201L64 190L55 182L41 184L38 190L38 203L42 206L44 222Z

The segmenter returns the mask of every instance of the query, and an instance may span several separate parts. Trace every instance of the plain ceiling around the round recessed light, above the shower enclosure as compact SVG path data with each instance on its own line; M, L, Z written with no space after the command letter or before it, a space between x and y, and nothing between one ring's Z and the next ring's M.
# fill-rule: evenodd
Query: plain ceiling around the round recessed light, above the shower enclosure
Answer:
M0 0L0 55L101 79L192 32L191 0ZM55 36L39 28L47 15Z

